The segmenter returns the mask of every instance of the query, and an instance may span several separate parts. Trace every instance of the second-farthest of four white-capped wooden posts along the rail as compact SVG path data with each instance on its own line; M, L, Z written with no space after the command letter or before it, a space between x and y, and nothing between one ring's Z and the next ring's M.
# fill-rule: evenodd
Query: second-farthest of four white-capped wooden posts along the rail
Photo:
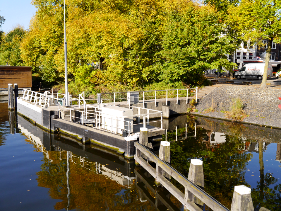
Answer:
M159 149L159 158L162 161L165 161L166 163L170 164L171 163L171 151L170 151L170 142L167 141L162 141L160 144L160 149ZM160 186L160 182L157 180L157 176L163 175L165 177L170 178L169 174L165 172L161 167L158 166L158 163L156 163L156 179L155 179L155 184L157 186Z

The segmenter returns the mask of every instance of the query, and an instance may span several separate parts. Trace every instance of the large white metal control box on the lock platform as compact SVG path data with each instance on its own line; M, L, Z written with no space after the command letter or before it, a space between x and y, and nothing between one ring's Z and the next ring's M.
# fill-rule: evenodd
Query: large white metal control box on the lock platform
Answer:
M124 129L128 133L129 128L133 133L133 110L119 106L102 108L102 129L122 134Z

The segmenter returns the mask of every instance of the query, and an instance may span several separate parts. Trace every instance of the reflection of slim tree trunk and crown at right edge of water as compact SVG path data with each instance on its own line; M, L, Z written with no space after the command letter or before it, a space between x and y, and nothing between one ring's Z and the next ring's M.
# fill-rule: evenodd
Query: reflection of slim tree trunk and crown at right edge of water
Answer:
M277 155L280 144L277 144ZM276 184L274 188L269 188L269 185L275 184L278 179L272 176L271 173L264 175L263 166L263 142L258 142L259 164L260 164L260 181L257 187L252 190L252 199L254 205L258 207L266 207L269 210L281 210L281 184Z

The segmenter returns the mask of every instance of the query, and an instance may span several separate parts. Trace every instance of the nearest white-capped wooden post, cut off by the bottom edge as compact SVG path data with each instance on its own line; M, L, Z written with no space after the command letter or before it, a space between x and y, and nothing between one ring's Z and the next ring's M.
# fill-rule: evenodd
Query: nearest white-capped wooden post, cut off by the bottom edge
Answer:
M254 211L251 188L244 185L234 186L231 211Z

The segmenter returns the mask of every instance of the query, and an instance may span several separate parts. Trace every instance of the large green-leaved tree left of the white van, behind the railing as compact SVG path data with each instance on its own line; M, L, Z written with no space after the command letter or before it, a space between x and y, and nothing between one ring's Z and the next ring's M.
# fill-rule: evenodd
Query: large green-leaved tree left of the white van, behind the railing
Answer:
M160 51L160 79L166 83L184 81L201 84L204 69L221 66L232 69L226 54L236 47L231 44L221 22L221 14L211 6L181 2L168 10L164 25L163 50Z

